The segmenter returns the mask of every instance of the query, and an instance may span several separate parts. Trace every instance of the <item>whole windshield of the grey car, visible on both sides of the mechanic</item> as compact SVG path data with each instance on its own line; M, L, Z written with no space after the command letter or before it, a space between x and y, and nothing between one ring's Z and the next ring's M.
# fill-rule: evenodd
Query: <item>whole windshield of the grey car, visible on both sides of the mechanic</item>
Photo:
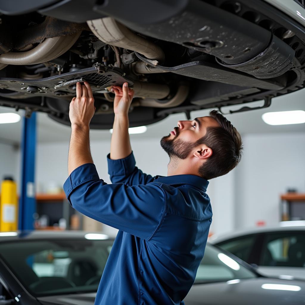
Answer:
M0 243L1 258L33 296L96 292L113 240ZM253 278L238 262L207 245L195 283Z

